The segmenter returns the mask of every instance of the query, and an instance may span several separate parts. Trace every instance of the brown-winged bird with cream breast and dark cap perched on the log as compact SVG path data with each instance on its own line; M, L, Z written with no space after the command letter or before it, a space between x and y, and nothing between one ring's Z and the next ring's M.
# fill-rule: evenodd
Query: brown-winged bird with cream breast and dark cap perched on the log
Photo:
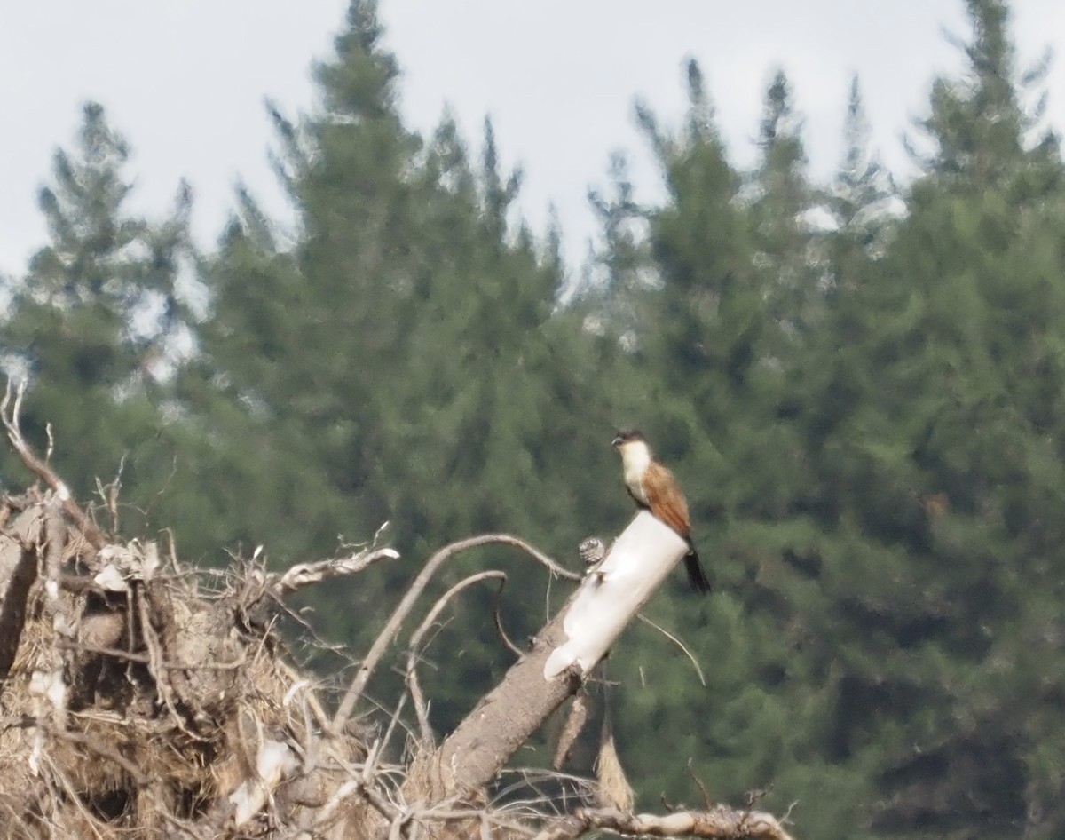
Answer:
M637 507L650 511L655 519L672 528L688 544L688 553L684 558L688 582L695 592L706 595L710 591L710 581L691 542L688 502L681 485L673 473L655 459L641 432L635 429L622 430L615 436L612 446L621 454L628 495L633 497Z

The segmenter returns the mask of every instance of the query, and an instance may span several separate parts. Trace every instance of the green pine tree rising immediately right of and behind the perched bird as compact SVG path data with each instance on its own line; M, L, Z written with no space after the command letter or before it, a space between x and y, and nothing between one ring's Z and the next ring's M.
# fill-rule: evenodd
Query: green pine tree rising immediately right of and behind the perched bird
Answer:
M605 387L619 417L642 425L657 454L675 466L719 593L706 602L662 593L650 608L699 662L712 663L705 688L683 655L667 652L670 643L654 633L639 633L611 659L611 675L626 686L615 700L619 743L623 760L639 762L641 775L657 780L645 793L666 789L690 801L698 794L676 754L656 752L653 732L668 726L689 733L678 750L693 759L692 772L715 795L742 795L793 769L791 743L802 748L803 738L791 730L824 695L784 691L797 640L781 640L790 609L776 591L783 572L771 558L786 538L774 520L788 515L801 492L802 459L777 417L784 376L771 353L777 323L767 306L768 275L754 256L753 211L694 63L688 93L688 115L676 132L659 127L650 109L639 110L668 198L640 211L646 244L607 229L606 242L620 243L620 256L632 262L611 261L619 255L610 252L604 259L654 278L607 290L622 305L635 300L628 311L641 317L622 343L618 379ZM824 787L824 774L804 770L803 781L792 779L782 796ZM840 821L846 806L829 810L825 823Z

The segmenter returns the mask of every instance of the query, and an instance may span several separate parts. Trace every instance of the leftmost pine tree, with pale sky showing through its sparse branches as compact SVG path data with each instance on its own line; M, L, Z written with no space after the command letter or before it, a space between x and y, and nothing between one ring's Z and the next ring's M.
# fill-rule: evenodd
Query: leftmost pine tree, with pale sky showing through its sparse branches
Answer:
M102 107L86 104L77 149L55 152L40 190L51 241L14 285L0 346L9 373L29 378L28 434L40 441L51 424L80 495L121 472L135 517L168 472L161 429L170 375L193 349L196 290L182 287L194 258L189 188L160 223L130 215L129 157Z

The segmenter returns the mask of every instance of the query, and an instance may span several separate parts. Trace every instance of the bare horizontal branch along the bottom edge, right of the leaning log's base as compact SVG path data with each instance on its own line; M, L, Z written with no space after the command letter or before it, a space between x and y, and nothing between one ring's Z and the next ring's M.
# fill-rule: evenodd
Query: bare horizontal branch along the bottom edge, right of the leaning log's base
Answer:
M607 830L641 837L699 837L706 840L793 840L780 821L765 811L738 811L719 805L708 811L675 811L659 817L612 808L581 808L545 828L536 840L575 840L588 831Z

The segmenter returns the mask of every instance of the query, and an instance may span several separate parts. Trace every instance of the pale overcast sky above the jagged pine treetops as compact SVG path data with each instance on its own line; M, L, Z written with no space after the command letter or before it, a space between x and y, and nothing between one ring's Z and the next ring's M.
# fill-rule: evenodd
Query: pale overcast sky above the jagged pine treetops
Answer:
M179 178L196 194L210 247L244 178L267 209L283 199L266 161L263 99L313 108L311 62L329 54L345 0L34 0L0 11L0 272L46 242L36 208L53 149L69 147L81 103L102 102L130 141L131 206L161 214ZM1063 0L1015 0L1022 64L1065 41ZM579 258L593 221L585 199L612 150L632 154L641 193L655 172L633 127L641 97L666 122L684 108L683 64L700 61L732 158L752 160L763 92L789 75L815 176L829 175L852 74L875 144L898 174L901 138L925 113L931 80L961 58L962 0L380 0L404 69L408 123L428 131L445 104L479 147L490 114L504 163L525 169L522 208L543 229L550 203ZM1051 66L1049 120L1065 128L1065 68Z

